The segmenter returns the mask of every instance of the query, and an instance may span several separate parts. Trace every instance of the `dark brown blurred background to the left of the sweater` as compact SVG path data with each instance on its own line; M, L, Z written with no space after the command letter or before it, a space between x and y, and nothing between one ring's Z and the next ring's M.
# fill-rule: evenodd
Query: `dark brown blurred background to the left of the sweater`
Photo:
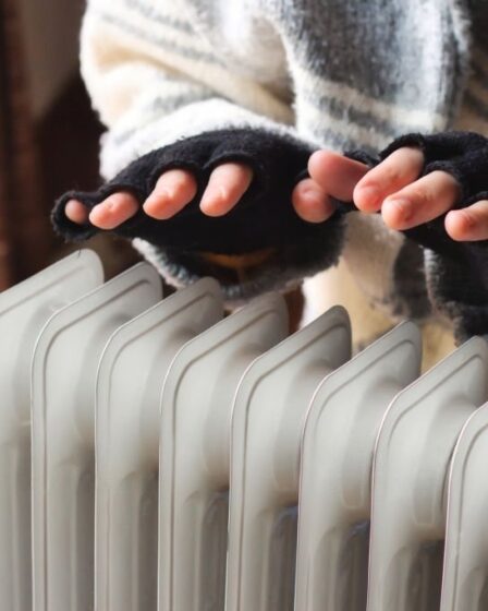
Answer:
M102 128L78 73L84 0L0 0L0 290L73 250L53 235L53 201L99 183ZM98 237L107 275L136 260Z

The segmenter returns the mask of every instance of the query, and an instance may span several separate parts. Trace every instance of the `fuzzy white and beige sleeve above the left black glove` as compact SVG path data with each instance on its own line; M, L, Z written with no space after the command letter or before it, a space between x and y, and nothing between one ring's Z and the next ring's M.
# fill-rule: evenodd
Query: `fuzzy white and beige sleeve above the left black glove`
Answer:
M81 65L107 127L106 179L149 151L206 131L293 131L289 104L227 65L193 11L186 0L89 0Z

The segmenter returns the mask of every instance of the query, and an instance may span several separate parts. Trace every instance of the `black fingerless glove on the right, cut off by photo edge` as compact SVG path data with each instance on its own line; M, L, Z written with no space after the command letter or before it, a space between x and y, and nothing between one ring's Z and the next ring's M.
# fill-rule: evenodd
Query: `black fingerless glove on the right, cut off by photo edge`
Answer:
M476 133L408 134L395 140L377 158L362 152L350 156L373 167L403 146L423 151L420 176L442 170L456 179L461 194L454 208L488 200L488 140ZM425 272L429 295L436 307L453 320L457 339L488 336L488 240L454 241L446 231L444 217L404 233L428 249Z

